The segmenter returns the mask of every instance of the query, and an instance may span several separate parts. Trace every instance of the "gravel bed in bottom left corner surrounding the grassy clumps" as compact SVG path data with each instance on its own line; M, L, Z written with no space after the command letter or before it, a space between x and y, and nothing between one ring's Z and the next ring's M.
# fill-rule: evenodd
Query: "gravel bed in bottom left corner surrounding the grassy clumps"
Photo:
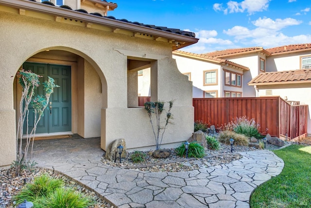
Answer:
M65 182L65 186L79 191L83 196L91 197L95 205L89 208L113 208L109 203L98 197L95 192L78 185L61 173L38 168L33 169L33 171L23 171L18 177L15 176L13 168L0 171L0 208L15 208L17 205L12 200L14 200L14 196L24 187L25 181L26 183L30 183L35 176L41 175L42 173L48 173L54 178L60 178Z

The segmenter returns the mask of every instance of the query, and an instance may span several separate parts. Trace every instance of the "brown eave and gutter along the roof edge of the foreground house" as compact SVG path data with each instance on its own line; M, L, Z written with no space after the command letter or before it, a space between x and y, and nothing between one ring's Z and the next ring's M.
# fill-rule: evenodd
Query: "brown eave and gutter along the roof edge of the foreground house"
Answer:
M0 5L14 7L17 9L24 9L35 11L43 14L48 14L56 17L65 17L72 18L87 23L95 23L99 25L108 26L111 28L123 29L131 32L147 33L155 35L158 37L164 37L171 40L176 40L182 42L178 47L175 47L174 50L190 46L198 42L198 38L190 37L186 35L174 34L166 31L157 30L154 28L148 28L145 26L140 26L128 22L123 22L120 20L110 19L106 17L98 17L95 15L80 13L74 10L64 9L56 6L51 6L43 4L40 2L30 1L30 0L0 0ZM173 46L174 47L174 46ZM172 49L173 50L173 49Z

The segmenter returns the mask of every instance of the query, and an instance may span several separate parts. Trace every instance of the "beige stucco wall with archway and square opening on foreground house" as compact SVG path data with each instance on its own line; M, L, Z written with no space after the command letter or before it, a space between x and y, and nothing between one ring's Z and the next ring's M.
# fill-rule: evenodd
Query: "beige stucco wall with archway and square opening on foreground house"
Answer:
M85 87L84 133L91 136L91 131L95 131L92 125L96 123L94 135L99 135L98 125L101 125L103 149L119 138L126 139L129 148L140 147L142 140L145 146L155 144L146 112L139 108L127 108L127 56L115 49L166 57L154 61L151 72L154 87L152 99L175 100L175 124L168 127L163 142L180 142L191 136L191 83L178 71L172 59L171 44L1 11L0 31L5 31L0 33L0 40L3 40L0 52L0 166L11 164L15 158L14 76L23 62L47 49L65 50L85 59L85 63L77 64L89 69L83 72L85 79L82 83ZM94 83L91 83L93 80ZM102 84L101 101L96 97L99 95L99 80ZM94 91L97 92L88 97L86 93L93 93L92 87L96 87ZM94 120L92 117L99 114L99 108L102 112L101 123L98 123L98 117Z

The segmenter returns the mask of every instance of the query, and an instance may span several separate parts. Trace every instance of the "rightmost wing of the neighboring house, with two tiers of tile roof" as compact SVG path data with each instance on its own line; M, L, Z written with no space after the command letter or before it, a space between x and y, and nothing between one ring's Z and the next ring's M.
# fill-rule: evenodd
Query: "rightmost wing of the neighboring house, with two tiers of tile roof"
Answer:
M309 105L308 129L311 134L311 43L267 49L266 71L248 83L258 96L280 96Z

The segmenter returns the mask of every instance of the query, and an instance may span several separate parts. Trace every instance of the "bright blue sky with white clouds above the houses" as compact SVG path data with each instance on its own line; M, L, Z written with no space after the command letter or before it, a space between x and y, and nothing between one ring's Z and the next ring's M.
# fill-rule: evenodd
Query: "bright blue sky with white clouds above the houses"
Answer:
M109 16L191 31L183 51L311 43L311 0L113 0Z

